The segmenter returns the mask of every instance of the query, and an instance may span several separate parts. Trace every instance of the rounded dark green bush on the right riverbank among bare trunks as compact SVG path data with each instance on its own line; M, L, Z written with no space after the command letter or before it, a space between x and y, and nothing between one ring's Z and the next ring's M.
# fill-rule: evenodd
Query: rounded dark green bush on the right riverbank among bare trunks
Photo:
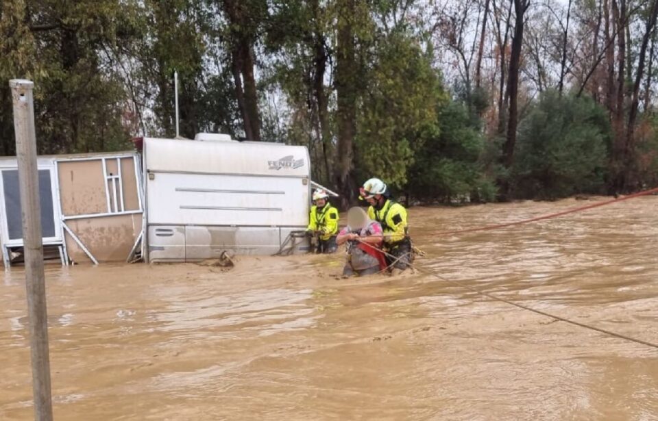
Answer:
M601 192L609 137L605 111L594 101L545 92L520 125L513 194L557 199Z

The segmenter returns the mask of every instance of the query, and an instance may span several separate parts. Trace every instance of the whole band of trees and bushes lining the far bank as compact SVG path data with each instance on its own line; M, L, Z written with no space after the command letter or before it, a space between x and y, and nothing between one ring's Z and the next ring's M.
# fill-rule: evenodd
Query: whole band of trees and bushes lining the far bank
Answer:
M655 0L5 0L8 79L40 153L198 131L308 146L356 200L555 199L658 183Z

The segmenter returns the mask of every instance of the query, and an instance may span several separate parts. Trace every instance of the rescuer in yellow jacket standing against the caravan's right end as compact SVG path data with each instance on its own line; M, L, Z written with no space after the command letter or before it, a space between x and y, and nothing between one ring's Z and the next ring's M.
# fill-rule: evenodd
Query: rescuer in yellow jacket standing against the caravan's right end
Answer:
M315 238L315 253L335 253L338 250L338 209L329 203L329 194L324 190L313 192L313 207L306 232Z

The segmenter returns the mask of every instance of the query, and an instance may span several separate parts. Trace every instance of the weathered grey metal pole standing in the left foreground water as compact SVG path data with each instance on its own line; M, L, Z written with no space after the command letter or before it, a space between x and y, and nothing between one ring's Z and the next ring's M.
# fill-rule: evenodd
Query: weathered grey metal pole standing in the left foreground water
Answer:
M53 407L48 355L48 314L46 285L43 272L41 238L41 204L39 176L36 164L36 134L32 81L13 79L9 82L14 101L14 131L16 158L19 164L19 188L23 209L23 248L25 250L25 289L29 316L29 344L32 358L32 393L34 419L51 421Z

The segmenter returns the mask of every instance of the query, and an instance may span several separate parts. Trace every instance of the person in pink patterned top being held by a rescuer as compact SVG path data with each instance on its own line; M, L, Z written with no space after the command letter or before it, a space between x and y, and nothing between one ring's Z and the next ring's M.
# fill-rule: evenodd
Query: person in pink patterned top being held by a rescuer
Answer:
M386 270L386 257L381 251L382 226L368 218L361 207L348 211L348 226L341 229L336 242L347 243L348 261L343 277L373 275Z

